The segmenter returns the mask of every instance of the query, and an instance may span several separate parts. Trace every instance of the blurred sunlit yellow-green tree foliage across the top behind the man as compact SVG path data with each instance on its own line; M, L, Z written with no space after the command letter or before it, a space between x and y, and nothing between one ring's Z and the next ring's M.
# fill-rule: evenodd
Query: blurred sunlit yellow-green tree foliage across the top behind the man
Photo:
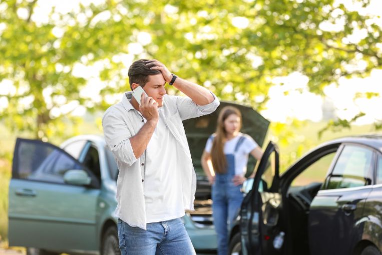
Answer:
M43 15L49 1L2 1L0 86L11 89L0 89L0 112L12 130L63 135L63 118L80 121L77 106L104 110L129 90L127 68L139 58L258 109L272 79L296 71L322 94L340 77L382 67L380 17L337 2L79 1Z

